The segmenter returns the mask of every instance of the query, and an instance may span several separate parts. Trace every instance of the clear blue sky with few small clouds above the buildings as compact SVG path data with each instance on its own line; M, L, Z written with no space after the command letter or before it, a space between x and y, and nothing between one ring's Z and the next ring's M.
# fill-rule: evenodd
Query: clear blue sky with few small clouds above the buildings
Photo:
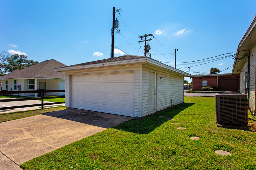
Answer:
M115 34L116 47L129 55L144 56L140 52L143 45L138 51L138 35L154 34L149 43L152 58L174 62L174 55L167 53L176 48L177 62L189 62L236 51L256 13L255 6L255 0L0 0L0 50L25 53L28 59L39 62L55 59L66 65L109 58L112 12L116 7L122 9L121 16L116 13L121 33ZM228 57L199 66L177 63L176 68L188 72L190 66L192 75L197 71L209 74L211 67L224 70L233 63ZM221 73L231 71L232 67Z

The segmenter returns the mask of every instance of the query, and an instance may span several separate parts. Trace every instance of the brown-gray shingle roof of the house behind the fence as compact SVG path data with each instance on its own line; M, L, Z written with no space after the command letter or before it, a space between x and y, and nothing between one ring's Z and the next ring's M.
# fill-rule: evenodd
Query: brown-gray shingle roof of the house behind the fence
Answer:
M6 75L0 77L0 79L14 79L14 78L55 78L65 79L65 73L54 71L54 68L64 67L65 64L56 60L46 60L39 62L33 66L29 66L25 69L15 70Z

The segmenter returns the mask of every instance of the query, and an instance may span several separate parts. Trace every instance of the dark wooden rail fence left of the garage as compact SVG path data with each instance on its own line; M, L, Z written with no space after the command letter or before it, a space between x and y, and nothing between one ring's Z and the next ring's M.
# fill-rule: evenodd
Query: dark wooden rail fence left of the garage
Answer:
M46 105L51 104L63 104L65 101L62 102L54 102L54 103L44 103L44 99L57 99L57 98L64 98L65 96L50 96L44 97L44 93L54 93L54 92L65 92L65 90L26 90L26 91L0 91L1 94L22 94L22 93L41 93L42 97L28 97L28 98L20 98L20 99L0 99L1 102L7 101L26 101L26 100L42 100L41 104L30 104L30 105L22 105L22 106L11 106L11 107L3 107L0 110L6 109L16 109L16 108L25 108L25 107L33 107L33 106L41 106L42 109Z

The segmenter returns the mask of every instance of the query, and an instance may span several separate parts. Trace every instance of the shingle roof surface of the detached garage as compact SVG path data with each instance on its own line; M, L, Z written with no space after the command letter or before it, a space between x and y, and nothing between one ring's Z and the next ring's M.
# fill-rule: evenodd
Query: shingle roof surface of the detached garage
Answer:
M144 56L128 56L128 55L126 55L126 56L119 56L119 57L114 57L114 58L107 58L107 59L103 59L103 60L85 62L85 63L81 63L81 64L75 64L75 65L71 65L71 66L82 66L82 65L89 65L89 64L98 64L98 63L103 63L103 62L130 60L130 59L135 59L135 58L144 58ZM64 66L64 67L71 67L71 66Z

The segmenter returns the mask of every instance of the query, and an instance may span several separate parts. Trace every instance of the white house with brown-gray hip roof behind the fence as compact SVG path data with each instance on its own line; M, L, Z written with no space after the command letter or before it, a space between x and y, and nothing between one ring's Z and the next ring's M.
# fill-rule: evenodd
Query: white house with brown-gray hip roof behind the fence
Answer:
M64 66L66 65L56 60L46 60L25 69L12 71L0 77L1 90L64 90L65 73L54 71L54 68ZM37 97L37 93L19 95L35 95ZM46 93L46 95L65 95L65 93Z

